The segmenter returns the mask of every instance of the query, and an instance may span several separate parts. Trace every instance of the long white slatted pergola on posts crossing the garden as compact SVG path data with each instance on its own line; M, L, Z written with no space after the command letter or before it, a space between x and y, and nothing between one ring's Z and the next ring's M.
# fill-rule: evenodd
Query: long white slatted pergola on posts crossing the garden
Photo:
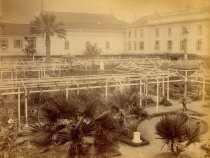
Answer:
M157 67L138 67L135 63L130 63L129 71L122 71L120 74L99 74L99 75L79 75L64 77L40 77L40 78L15 78L1 79L1 95L18 96L18 127L21 127L21 95L24 96L25 122L28 126L28 95L32 93L65 92L68 100L69 91L82 89L104 89L107 98L109 88L118 87L121 91L123 87L139 86L140 106L142 96L148 95L148 85L156 85L156 112L159 110L159 87L162 86L162 94L169 99L169 84L172 82L199 82L203 84L203 101L205 100L205 84L210 84L209 76L199 69L193 70L192 75L181 75L177 69L161 69ZM133 70L135 70L133 72ZM137 71L136 71L137 70ZM188 70L185 70L188 71ZM166 84L166 86L165 86Z

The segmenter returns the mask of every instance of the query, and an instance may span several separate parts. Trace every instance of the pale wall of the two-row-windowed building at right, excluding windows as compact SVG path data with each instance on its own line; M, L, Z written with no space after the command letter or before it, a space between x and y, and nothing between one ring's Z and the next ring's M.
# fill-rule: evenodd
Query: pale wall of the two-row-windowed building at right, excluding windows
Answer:
M209 54L209 22L210 20L197 20L191 22L179 22L179 23L168 23L168 24L156 24L141 26L136 28L127 28L125 42L126 42L126 52L127 53L139 53L139 54L149 54L149 53L183 53L180 50L180 41L187 39L187 53L197 54L197 55L210 55ZM189 33L182 35L182 27L187 27ZM202 27L202 32L199 33L198 27ZM171 28L171 36L168 35L168 28ZM156 29L159 30L159 36L156 37ZM140 30L143 30L143 37L141 37ZM137 36L135 37L135 31ZM129 32L131 32L131 38L129 38ZM160 42L159 50L154 49L154 43L158 40ZM167 49L167 41L173 41L172 50ZM197 40L202 41L201 50L197 50L196 42ZM129 41L132 43L132 49L128 49ZM137 45L137 50L134 49L134 41L139 44L140 41L144 42L144 50L139 50L139 45Z

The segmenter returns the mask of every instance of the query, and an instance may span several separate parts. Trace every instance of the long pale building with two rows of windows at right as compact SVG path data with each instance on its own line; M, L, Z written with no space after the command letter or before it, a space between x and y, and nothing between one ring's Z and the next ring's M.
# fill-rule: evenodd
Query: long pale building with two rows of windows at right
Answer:
M210 50L210 12L191 9L142 17L125 29L125 52L190 53Z

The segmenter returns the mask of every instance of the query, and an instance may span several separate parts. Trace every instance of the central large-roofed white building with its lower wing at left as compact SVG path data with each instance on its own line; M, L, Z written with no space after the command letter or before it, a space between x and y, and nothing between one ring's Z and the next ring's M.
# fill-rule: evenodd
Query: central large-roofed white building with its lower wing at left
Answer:
M87 44L97 45L102 55L124 52L125 22L111 14L88 14L69 12L48 12L56 16L56 21L64 23L66 40L51 37L51 55L81 55ZM28 24L0 23L0 55L24 55L24 37L30 34ZM37 55L45 55L44 36L36 36Z

